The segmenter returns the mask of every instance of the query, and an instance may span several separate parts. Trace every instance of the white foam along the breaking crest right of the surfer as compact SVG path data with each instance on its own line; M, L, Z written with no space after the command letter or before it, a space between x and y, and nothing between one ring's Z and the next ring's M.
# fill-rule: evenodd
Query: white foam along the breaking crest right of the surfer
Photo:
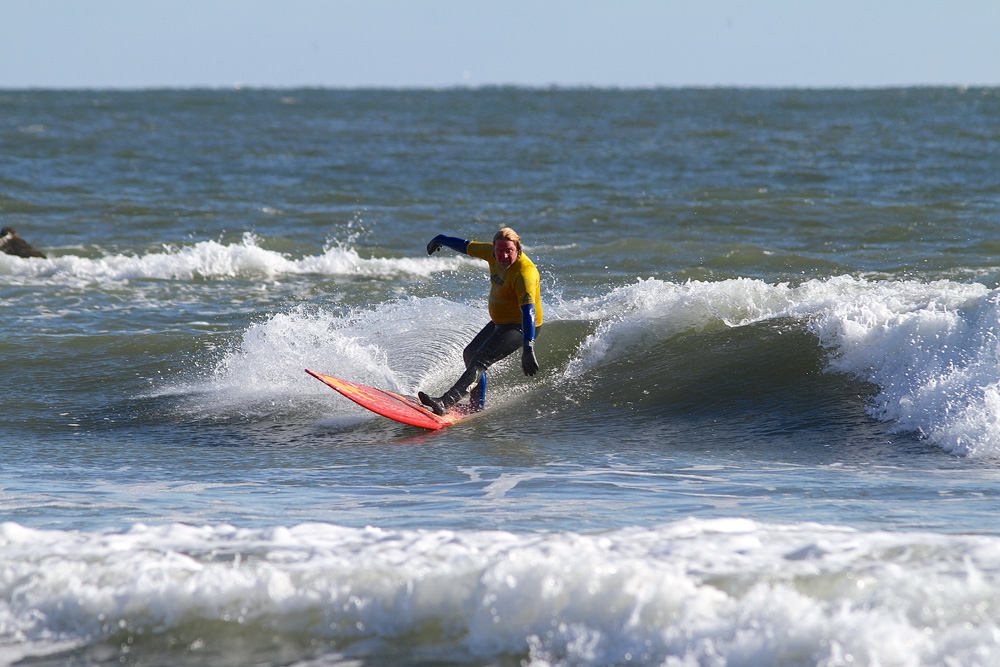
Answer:
M997 457L998 303L998 293L984 285L944 280L844 276L798 286L640 280L577 304L579 314L599 324L567 373L582 374L682 334L792 318L831 350L831 370L879 388L873 416L955 453Z

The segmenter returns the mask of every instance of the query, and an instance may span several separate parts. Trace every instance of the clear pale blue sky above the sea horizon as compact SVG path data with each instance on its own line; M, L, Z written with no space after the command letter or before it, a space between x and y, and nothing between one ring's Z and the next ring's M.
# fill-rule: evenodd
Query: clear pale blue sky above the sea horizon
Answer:
M0 0L0 88L1000 85L997 0Z

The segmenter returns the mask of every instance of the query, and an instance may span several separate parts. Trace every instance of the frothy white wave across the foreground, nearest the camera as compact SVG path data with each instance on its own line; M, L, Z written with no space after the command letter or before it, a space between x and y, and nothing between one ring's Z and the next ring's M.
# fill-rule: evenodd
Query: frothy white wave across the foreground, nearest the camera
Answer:
M745 519L599 534L6 523L0 554L7 663L71 647L240 664L276 645L317 664L1000 659L995 537Z

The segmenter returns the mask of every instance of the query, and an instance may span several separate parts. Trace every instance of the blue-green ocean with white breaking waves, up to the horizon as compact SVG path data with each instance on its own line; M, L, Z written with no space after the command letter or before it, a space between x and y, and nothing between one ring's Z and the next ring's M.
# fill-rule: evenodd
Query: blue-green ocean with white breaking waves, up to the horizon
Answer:
M1000 89L2 90L0 664L1000 664ZM441 431L522 236L541 371Z

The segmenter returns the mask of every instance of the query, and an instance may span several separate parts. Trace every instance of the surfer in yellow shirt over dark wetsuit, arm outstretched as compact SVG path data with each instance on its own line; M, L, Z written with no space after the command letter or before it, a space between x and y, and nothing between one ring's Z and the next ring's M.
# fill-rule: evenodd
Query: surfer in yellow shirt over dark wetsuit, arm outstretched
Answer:
M444 415L448 408L471 392L475 410L486 405L486 369L521 348L521 370L538 372L535 335L542 326L542 300L538 269L521 250L521 237L510 227L493 236L493 243L466 241L438 234L427 244L427 254L442 247L486 260L490 265L490 322L465 348L465 372L444 395L434 398L424 392L420 402Z

